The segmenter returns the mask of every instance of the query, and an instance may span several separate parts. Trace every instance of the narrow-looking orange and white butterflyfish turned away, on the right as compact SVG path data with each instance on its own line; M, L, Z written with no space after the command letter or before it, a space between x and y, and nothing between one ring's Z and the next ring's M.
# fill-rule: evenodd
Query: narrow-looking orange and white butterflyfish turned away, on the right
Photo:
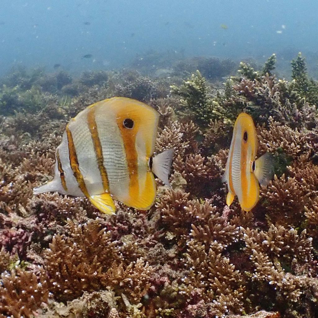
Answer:
M259 185L265 186L273 176L273 156L265 153L255 160L258 139L253 119L241 113L235 121L233 137L222 182L228 193L226 204L230 206L237 196L244 211L250 211L259 200Z

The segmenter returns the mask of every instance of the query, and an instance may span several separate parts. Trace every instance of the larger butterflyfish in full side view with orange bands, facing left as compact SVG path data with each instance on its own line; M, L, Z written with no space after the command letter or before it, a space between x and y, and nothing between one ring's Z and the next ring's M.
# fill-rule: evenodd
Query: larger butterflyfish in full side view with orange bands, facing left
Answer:
M87 197L113 214L113 198L148 210L156 198L156 175L169 186L174 149L154 155L158 112L137 100L114 97L88 106L66 125L55 152L52 181L33 194L59 192Z

